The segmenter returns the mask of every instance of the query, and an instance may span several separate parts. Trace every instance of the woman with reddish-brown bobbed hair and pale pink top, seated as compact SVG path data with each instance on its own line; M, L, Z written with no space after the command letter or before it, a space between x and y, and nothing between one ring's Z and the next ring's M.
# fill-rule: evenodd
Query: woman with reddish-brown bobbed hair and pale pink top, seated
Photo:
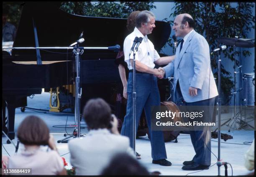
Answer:
M18 128L17 137L25 149L8 162L10 168L30 168L32 175L66 175L63 160L57 152L54 138L49 134L46 123L37 116L27 116ZM40 149L50 147L49 152Z

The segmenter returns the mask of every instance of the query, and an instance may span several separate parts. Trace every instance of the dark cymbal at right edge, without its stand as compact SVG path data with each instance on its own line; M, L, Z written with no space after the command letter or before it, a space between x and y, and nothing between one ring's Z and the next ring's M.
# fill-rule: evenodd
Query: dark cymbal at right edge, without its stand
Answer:
M226 44L228 46L238 46L238 47L246 47L246 48L252 48L254 47L254 43L250 39L243 39L243 38L217 38L217 41L219 43Z

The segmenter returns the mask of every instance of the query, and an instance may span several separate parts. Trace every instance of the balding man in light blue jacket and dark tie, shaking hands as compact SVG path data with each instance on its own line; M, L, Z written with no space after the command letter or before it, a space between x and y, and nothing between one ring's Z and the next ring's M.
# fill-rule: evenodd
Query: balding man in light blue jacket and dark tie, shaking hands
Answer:
M209 45L205 38L194 30L194 27L195 22L191 15L177 15L173 30L177 37L183 39L177 47L174 61L164 68L159 68L159 71L164 71L165 78L174 76L174 101L178 106L207 106L204 120L211 122L218 90L210 66ZM183 170L209 168L211 131L209 127L204 128L207 129L190 131L196 154L191 161L183 162Z

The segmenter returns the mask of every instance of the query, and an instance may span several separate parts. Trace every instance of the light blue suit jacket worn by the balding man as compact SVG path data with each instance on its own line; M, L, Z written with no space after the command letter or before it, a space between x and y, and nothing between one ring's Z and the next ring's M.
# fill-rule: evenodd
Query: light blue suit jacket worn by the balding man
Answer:
M164 67L166 78L174 77L174 93L179 79L182 96L188 103L218 96L210 66L210 49L205 38L194 30L183 44L180 53L179 49L180 44L174 61ZM189 86L198 88L197 96L189 96ZM174 97L174 101L176 99Z

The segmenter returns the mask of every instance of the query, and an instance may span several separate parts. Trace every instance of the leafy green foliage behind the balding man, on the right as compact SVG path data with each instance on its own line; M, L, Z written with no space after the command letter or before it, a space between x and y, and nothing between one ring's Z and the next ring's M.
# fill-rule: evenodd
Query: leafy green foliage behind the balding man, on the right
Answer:
M239 2L236 6L230 2L182 2L175 3L174 13L170 15L175 17L181 13L189 13L196 22L195 30L204 35L209 43L210 50L214 50L220 46L216 40L219 37L247 38L247 33L255 28L255 16L251 15L252 8L255 3ZM168 21L173 25L173 21ZM173 46L173 39L169 38L169 46ZM238 58L240 52L235 51L233 46L227 46L227 49L222 52L225 57L231 61ZM211 56L212 68L218 68L218 53ZM243 51L243 56L250 56L251 53L247 50ZM239 62L236 60L236 64ZM218 78L217 72L214 73ZM221 66L221 89L225 95L223 104L228 104L231 99L231 89L233 81L231 81L230 73Z

